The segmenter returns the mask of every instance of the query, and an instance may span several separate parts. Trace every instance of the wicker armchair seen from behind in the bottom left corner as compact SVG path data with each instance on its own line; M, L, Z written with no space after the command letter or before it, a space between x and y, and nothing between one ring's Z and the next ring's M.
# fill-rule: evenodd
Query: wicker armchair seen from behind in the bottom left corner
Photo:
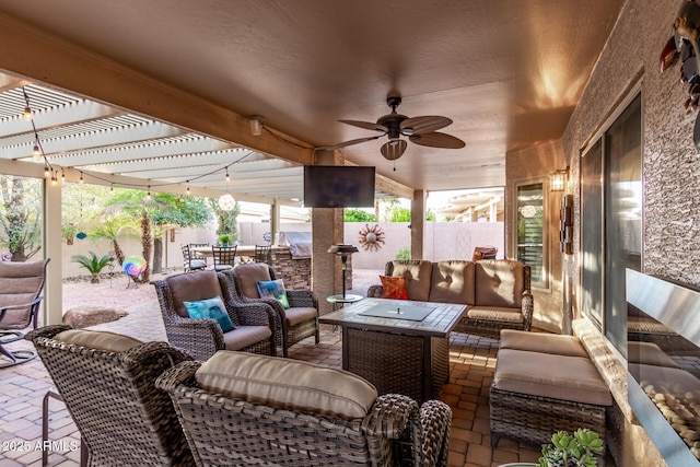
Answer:
M191 466L167 393L155 378L187 360L166 342L70 326L27 332L81 434L88 466Z

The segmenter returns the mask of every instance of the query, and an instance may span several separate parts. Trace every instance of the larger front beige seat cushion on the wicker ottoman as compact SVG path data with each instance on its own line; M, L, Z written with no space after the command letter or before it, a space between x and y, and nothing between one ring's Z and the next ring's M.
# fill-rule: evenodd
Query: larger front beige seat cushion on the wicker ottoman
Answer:
M493 382L499 389L512 393L612 405L610 390L597 369L581 357L500 349Z

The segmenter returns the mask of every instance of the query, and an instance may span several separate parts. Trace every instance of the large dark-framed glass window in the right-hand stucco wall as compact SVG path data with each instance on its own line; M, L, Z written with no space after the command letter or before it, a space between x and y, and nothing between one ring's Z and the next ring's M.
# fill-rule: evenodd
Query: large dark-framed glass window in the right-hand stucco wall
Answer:
M581 159L582 312L623 354L625 269L641 270L641 96Z

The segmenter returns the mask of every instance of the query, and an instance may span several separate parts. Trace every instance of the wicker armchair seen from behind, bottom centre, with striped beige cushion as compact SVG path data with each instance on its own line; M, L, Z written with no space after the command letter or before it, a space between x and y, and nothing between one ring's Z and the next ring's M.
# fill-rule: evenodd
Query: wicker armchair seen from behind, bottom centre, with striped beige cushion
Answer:
M219 352L212 360L223 353L238 352ZM245 392L242 386L247 388L248 383L266 384L267 381L260 383L260 372L273 376L280 370L280 361L282 365L293 365L287 367L287 373L293 373L296 377L288 377L285 381L289 383L279 387L268 387L269 392L252 387L253 390L247 395L235 397L226 394L226 389L219 392L220 387L207 387L211 386L211 380L202 380L200 371L210 364L209 361L201 367L195 362L184 362L163 373L156 382L158 387L167 390L175 402L198 466L446 465L452 412L444 402L429 400L419 408L407 396L388 394L376 397L376 390L371 387L373 393L368 395L365 390L361 398L362 407L353 407L353 411L359 413L352 418L342 413L328 415L325 410L300 409L294 407L300 400L318 400L322 396L328 396L324 389L313 393L317 388L315 383L337 381L339 387L347 387L349 383L353 388L371 385L340 370L323 369L290 359L245 357L258 362L247 365L234 359L235 364L228 367L230 371L219 373L225 375L219 377L221 386L231 384L234 390ZM259 362L262 359L265 362ZM246 366L254 370L248 372L249 378L237 371ZM317 371L335 374L314 378ZM282 373L285 373L284 366ZM226 378L230 383L225 383ZM351 381L348 382L348 378ZM311 383L302 387L301 382ZM315 394L315 397L304 399L305 389L310 389L305 393L307 396ZM287 394L280 394L283 392ZM300 392L302 396L292 392ZM276 401L262 399L265 395L276 398ZM280 401L284 396L290 399ZM347 400L345 397L342 399L343 402ZM332 402L329 405L332 406Z

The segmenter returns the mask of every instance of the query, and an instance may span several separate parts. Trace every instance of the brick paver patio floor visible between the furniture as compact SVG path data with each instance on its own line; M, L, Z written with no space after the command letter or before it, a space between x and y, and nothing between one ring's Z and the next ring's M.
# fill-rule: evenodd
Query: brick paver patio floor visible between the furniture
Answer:
M127 308L129 315L95 326L141 340L165 340L158 302ZM31 348L31 342L10 345ZM308 338L290 349L290 358L340 367L340 331L322 326L322 341ZM501 439L490 447L489 386L495 366L498 341L454 332L451 338L451 377L441 399L453 410L450 466L491 467L514 462L537 462L538 446ZM52 383L42 361L0 370L0 467L42 465L42 400ZM62 402L49 401L49 439L58 452L50 452L49 466L72 467L80 462L77 431ZM71 444L72 442L72 444Z

